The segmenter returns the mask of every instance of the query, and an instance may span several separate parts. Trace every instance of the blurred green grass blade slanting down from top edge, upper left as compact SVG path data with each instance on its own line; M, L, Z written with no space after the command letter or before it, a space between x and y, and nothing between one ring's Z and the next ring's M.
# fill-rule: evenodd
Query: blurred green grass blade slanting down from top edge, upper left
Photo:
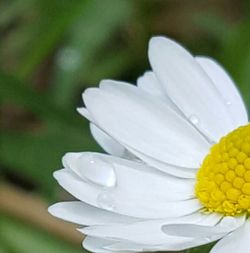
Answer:
M18 70L20 77L29 76L55 49L65 31L84 12L89 2L91 1L37 1L41 13L30 27L30 30L34 32L33 39L27 45L27 55Z

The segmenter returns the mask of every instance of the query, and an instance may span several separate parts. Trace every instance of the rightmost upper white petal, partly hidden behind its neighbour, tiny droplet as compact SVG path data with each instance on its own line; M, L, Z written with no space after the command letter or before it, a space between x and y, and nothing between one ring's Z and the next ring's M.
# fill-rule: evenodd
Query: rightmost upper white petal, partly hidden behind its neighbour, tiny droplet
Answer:
M231 77L215 60L196 57L198 63L206 71L226 104L235 128L248 122L246 107Z

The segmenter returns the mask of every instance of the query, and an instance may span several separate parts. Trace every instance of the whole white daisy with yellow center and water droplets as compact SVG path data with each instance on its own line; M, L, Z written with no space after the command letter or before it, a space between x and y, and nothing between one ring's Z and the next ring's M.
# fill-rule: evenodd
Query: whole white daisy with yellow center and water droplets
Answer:
M79 112L110 155L66 154L54 176L79 201L50 213L79 224L93 252L219 239L212 253L248 252L250 125L241 96L218 63L167 38L151 39L149 60L153 71L137 86L104 80L84 92Z

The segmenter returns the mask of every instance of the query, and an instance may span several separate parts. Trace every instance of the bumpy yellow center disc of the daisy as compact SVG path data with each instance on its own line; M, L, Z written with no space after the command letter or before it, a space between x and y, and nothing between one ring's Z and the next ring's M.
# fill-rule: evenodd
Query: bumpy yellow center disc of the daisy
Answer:
M197 173L195 192L208 212L250 214L250 124L211 148Z

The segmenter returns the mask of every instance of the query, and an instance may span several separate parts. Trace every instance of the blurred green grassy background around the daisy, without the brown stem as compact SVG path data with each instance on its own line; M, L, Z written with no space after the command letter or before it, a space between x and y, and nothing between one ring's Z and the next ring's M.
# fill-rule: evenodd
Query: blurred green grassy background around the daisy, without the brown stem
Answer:
M0 1L0 184L67 198L52 178L62 155L100 150L75 111L81 92L104 78L135 82L160 34L220 61L250 109L248 0ZM59 251L82 252L0 208L0 253Z

